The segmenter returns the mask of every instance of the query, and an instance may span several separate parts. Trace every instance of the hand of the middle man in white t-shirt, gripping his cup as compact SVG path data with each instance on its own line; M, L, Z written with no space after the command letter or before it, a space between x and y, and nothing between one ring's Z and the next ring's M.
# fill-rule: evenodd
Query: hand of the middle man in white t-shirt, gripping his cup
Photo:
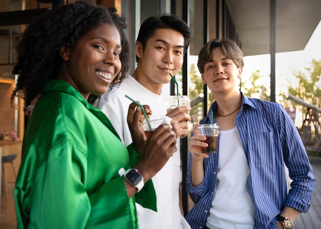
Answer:
M172 118L171 124L173 131L176 134L176 138L184 138L188 135L188 123L191 120L191 116L187 114L187 111L191 110L191 107L177 107L174 110L167 110L167 116Z

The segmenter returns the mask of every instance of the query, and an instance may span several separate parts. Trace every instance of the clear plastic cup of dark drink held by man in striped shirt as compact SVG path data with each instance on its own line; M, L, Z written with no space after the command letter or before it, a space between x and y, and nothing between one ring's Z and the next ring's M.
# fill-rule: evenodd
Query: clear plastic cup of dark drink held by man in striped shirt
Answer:
M206 137L204 142L207 143L207 147L202 147L203 153L216 154L219 126L217 126L216 123L201 124L197 129L200 135L204 135Z

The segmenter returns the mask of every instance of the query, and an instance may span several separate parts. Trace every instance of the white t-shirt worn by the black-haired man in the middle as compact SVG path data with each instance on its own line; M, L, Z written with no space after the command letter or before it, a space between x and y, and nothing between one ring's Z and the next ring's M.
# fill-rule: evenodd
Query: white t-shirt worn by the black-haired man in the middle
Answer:
M104 94L95 106L106 114L117 134L128 146L132 142L132 138L127 125L127 113L132 101L125 95L139 101L142 105L149 105L153 115L166 115L167 112L163 96L152 93L130 75L124 79L118 88ZM179 140L177 140L176 146L179 149ZM136 203L139 228L190 228L179 209L179 150L174 153L152 180L156 191L157 212L145 209Z

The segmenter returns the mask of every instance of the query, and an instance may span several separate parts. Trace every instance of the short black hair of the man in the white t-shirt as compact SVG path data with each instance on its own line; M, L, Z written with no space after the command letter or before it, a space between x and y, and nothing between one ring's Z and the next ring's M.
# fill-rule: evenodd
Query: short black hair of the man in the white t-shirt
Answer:
M139 41L143 49L146 47L147 41L155 34L157 29L172 29L184 37L184 53L188 49L191 39L191 30L184 20L180 19L174 14L163 14L160 17L149 17L144 20L141 28L139 28L136 41ZM138 56L136 55L136 62L138 63Z

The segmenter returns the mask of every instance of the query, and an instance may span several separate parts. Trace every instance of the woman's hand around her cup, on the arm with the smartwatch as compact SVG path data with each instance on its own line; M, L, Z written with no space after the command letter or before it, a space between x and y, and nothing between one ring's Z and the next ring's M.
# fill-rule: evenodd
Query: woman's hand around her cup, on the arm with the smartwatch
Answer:
M175 133L169 124L162 124L152 132L142 151L139 152L139 162L135 168L143 175L146 182L163 168L176 150Z

